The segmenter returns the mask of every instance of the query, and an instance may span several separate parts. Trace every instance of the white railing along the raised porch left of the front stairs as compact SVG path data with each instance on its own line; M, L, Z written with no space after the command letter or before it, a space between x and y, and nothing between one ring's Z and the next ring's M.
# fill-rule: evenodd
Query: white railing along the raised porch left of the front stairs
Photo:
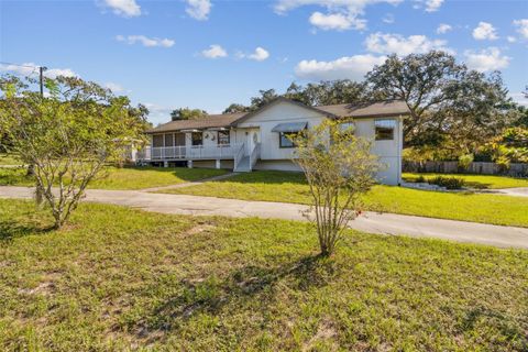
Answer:
M140 161L234 158L243 144L147 146L138 152Z

